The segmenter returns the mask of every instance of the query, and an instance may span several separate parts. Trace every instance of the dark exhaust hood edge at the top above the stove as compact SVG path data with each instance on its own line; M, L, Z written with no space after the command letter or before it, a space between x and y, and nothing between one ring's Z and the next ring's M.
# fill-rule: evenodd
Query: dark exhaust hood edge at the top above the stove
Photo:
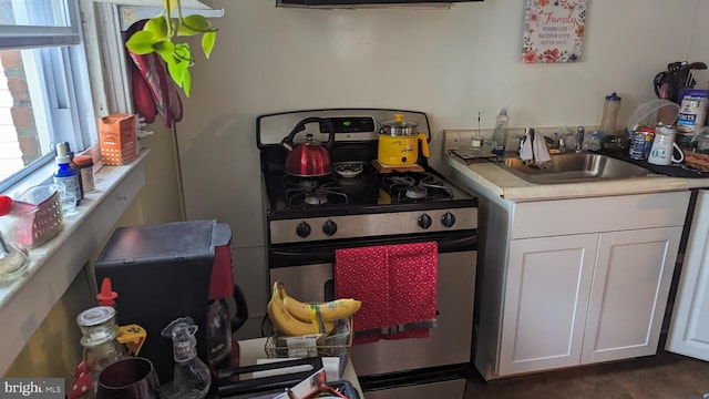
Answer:
M450 8L458 2L483 0L276 0L277 7L301 8Z

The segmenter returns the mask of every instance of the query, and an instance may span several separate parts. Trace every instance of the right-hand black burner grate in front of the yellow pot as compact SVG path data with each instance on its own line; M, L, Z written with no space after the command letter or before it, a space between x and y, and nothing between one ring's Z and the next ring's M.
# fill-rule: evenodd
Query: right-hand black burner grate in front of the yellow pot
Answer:
M397 202L453 197L453 190L429 173L384 174L381 183Z

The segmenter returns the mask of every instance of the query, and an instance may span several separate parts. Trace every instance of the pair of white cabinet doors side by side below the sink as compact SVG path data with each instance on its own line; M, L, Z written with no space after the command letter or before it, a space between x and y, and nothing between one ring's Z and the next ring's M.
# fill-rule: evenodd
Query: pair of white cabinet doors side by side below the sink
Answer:
M500 375L655 354L680 234L512 241Z

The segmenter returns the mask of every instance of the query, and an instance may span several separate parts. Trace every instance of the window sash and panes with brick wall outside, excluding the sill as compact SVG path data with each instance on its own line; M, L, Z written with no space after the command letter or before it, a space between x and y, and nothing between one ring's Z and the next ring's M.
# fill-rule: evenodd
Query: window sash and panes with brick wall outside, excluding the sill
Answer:
M0 0L0 192L97 142L76 0Z

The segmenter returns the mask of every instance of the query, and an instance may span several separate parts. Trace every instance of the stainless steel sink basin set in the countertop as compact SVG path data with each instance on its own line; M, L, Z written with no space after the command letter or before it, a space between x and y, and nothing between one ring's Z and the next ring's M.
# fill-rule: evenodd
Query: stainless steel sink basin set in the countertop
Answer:
M592 153L552 155L552 161L543 166L527 165L518 157L506 158L500 165L525 181L536 184L580 183L655 175L643 166Z

